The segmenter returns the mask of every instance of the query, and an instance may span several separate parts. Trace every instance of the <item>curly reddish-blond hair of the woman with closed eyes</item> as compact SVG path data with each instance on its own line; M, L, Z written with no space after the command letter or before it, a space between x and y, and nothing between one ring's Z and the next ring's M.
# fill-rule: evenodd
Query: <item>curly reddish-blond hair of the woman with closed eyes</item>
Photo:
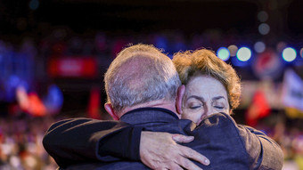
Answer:
M216 78L225 86L231 109L239 106L241 81L233 67L207 49L176 53L173 62L182 84L186 85L197 74Z

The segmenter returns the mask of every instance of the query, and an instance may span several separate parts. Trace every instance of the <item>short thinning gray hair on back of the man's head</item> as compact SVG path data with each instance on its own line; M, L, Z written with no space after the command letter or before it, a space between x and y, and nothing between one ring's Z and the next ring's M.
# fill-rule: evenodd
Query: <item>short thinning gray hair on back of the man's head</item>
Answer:
M173 62L152 45L133 45L111 62L104 77L108 101L117 112L148 101L176 100L181 81Z

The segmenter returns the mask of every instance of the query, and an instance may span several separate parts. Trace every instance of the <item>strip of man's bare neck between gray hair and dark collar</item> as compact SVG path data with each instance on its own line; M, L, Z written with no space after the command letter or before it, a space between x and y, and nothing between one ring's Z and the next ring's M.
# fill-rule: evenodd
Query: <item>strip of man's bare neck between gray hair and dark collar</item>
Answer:
M174 101L158 100L158 101L144 102L142 104L137 104L135 106L122 109L119 112L119 117L122 117L130 110L139 109L139 108L163 108L163 109L169 109L172 112L176 113L176 103ZM176 113L176 116L181 118L180 114Z

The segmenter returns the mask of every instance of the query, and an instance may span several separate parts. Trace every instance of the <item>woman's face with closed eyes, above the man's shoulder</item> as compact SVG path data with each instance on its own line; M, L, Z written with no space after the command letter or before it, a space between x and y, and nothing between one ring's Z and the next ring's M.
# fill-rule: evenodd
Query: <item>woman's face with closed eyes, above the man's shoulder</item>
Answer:
M217 112L229 113L224 85L209 76L192 77L186 85L182 118L200 124L204 117Z

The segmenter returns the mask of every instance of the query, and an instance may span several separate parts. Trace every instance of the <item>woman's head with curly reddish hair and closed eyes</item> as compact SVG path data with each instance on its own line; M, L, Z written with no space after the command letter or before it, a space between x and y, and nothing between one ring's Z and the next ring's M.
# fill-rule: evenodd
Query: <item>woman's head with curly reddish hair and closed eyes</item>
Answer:
M231 114L239 105L240 78L215 53L206 49L176 53L173 62L186 86L182 118L199 124L213 113Z

